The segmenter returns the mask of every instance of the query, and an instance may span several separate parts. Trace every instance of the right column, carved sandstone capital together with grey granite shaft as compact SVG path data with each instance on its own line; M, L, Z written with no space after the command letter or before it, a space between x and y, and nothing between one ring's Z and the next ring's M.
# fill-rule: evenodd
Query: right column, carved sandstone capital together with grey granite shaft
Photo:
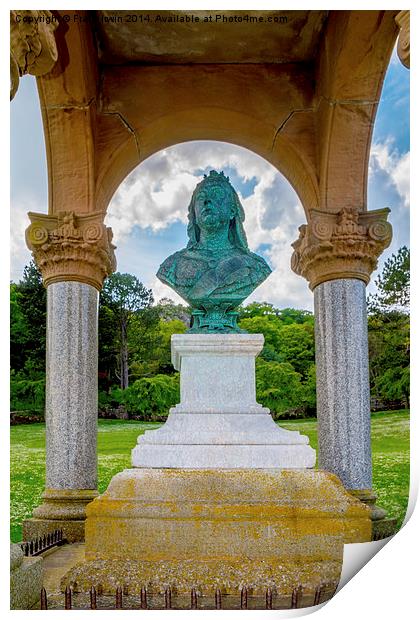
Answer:
M318 461L374 506L366 284L389 245L389 209L312 211L293 244L292 269L314 291Z

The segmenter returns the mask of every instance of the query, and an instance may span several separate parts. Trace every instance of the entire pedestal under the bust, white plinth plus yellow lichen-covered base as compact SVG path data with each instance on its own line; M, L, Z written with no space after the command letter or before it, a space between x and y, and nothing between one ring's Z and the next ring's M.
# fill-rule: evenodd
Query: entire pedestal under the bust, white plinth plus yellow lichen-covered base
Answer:
M315 451L255 400L259 334L172 337L181 402L140 437L133 468L87 507L86 562L62 588L291 596L337 585L345 542L371 536L369 509ZM333 589L334 589L333 587Z

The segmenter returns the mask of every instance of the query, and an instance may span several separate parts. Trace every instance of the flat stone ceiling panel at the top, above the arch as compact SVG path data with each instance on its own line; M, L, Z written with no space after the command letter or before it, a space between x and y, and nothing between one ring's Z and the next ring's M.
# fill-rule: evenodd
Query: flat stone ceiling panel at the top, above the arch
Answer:
M328 15L328 11L222 10L93 13L103 64L308 62L316 55ZM217 15L227 21L222 17L216 21Z

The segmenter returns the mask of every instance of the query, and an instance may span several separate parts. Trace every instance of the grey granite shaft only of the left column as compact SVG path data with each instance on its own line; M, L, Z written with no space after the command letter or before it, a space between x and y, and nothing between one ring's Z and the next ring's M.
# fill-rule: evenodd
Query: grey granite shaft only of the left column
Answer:
M47 297L46 486L96 489L98 291L57 282Z

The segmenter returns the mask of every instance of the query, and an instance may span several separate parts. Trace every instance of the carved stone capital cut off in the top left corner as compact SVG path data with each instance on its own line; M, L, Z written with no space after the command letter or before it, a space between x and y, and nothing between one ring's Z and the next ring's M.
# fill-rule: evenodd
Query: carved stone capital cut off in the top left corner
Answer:
M58 58L57 26L51 11L10 11L10 99L22 75L44 75L53 68Z

